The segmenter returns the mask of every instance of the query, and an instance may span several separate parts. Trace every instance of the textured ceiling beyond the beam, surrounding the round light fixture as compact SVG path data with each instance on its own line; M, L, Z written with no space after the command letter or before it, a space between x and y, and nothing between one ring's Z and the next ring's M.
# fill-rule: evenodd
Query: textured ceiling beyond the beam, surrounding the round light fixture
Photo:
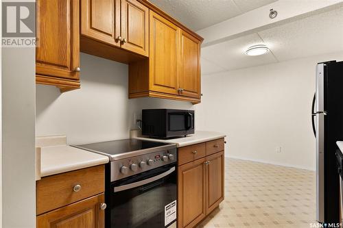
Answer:
M343 51L343 8L202 48L202 74ZM265 44L270 52L248 56L247 47Z

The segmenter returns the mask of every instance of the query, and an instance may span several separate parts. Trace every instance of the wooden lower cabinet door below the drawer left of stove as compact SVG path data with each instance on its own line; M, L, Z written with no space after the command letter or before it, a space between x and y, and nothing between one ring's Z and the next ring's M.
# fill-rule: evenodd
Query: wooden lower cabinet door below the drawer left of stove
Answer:
M104 193L37 216L37 228L103 228Z

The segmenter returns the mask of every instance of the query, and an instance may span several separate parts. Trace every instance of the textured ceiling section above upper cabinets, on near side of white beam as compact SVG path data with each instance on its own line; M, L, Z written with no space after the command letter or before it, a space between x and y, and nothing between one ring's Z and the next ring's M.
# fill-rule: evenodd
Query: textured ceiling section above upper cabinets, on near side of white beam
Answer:
M195 31L274 1L276 0L150 0Z

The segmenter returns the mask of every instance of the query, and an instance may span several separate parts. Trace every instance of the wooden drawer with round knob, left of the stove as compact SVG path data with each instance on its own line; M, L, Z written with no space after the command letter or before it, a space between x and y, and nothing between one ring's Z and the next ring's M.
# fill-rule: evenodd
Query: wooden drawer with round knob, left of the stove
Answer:
M43 214L104 191L104 165L43 177L36 181L36 213Z

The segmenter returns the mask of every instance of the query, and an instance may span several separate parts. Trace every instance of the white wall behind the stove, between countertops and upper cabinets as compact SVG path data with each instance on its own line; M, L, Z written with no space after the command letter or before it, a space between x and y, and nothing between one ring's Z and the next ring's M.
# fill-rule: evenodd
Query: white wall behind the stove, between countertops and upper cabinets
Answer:
M191 109L189 102L128 99L128 65L81 53L81 88L36 86L36 136L67 135L69 144L129 138L143 108Z

